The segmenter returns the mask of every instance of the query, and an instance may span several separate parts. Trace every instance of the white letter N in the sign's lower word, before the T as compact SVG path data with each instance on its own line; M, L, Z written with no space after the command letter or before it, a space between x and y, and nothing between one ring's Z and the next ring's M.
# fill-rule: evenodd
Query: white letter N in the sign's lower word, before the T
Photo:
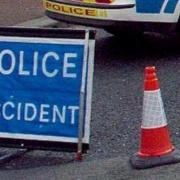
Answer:
M61 113L56 105L53 106L53 120L52 122L55 123L57 120L57 116L60 119L61 123L65 123L66 118L66 106L63 106Z

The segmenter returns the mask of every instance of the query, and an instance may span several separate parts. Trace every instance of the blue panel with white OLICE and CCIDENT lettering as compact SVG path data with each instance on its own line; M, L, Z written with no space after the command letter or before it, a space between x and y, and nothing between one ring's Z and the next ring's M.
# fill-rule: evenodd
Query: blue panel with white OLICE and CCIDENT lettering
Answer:
M84 44L0 40L0 132L78 136Z

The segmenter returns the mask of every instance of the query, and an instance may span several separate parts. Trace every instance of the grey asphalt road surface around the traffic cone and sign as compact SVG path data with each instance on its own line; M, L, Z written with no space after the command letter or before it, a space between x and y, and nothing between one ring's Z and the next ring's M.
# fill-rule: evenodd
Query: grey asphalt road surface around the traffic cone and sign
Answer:
M21 1L15 1L15 5L18 6L15 8L13 5L13 10L10 11L11 2L0 2L1 25L14 25L25 19L42 16L41 8L38 8L38 12L34 9L39 1L33 1L33 7L29 9L30 1L24 0L27 9L23 8L23 11ZM24 13L29 15L26 16ZM17 14L19 15L14 18ZM9 20L6 20L7 17ZM138 150L143 72L149 65L156 66L158 70L172 142L180 149L180 41L174 37L156 34L146 35L140 39L117 38L98 30L91 142L90 150L84 156L83 162L74 161L74 154L31 151L3 164L0 167L0 177L3 177L3 180L178 180L180 163L140 171L132 169L129 164L129 157Z

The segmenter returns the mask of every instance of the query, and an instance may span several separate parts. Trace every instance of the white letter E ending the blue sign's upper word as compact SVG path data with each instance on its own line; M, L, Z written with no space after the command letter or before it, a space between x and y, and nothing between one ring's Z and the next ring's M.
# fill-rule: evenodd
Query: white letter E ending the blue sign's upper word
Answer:
M68 73L68 68L76 68L76 64L69 63L68 60L69 60L69 58L76 58L76 57L77 57L77 54L75 54L75 53L65 53L63 77L67 77L67 78L76 78L77 77L76 73Z

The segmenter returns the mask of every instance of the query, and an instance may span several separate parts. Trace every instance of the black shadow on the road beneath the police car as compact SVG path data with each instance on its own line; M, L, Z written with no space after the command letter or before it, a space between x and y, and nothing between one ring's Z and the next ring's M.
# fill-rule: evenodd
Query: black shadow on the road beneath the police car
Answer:
M98 53L97 53L98 52ZM122 34L101 38L96 43L98 57L115 56L126 58L165 57L180 55L180 37L177 35L161 35L158 33ZM96 58L98 61L98 58Z

